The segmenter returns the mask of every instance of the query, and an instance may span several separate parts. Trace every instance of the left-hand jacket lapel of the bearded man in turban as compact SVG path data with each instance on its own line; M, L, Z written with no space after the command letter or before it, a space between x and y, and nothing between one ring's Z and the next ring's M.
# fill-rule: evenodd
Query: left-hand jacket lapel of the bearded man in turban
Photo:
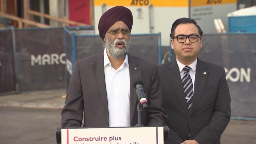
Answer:
M99 89L100 96L104 103L104 107L108 112L108 99L107 99L107 91L106 91L106 83L105 83L105 74L104 74L104 57L103 51L98 54L96 59L92 64L92 69L95 73L95 79L97 82L97 86Z

